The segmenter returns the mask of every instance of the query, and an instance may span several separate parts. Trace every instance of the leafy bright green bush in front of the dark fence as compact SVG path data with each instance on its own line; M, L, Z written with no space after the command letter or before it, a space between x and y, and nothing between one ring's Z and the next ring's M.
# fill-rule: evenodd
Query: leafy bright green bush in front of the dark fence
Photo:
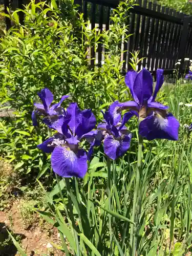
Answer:
M50 5L31 1L24 10L25 26L19 24L18 10L8 15L15 27L1 38L0 102L2 110L11 109L15 116L1 122L0 151L13 161L15 170L23 174L32 170L35 178L50 168L47 157L36 148L45 139L45 128L36 131L31 121L42 88L58 98L69 94L66 104L74 101L82 109L90 108L98 119L100 110L114 99L129 98L122 87L120 56L122 38L129 37L125 23L130 4L125 1L113 10L113 25L102 33L90 29L89 20L78 14L70 0L61 1L59 7L55 1ZM105 47L105 63L91 68L87 55L99 43Z

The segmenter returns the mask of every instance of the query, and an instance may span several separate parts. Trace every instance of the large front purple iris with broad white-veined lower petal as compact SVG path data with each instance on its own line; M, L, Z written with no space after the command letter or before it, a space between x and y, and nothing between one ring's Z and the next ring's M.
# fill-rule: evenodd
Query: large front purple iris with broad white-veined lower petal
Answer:
M62 117L59 133L44 141L37 147L45 153L52 153L51 166L62 177L83 178L87 172L86 151L79 148L83 135L91 132L96 118L91 110L80 111L77 103L71 103L67 113Z

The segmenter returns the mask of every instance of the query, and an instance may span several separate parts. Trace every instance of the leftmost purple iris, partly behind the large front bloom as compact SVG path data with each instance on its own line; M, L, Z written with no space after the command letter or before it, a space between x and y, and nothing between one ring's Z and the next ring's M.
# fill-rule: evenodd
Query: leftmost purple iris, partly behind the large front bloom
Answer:
M65 115L65 110L61 108L61 103L63 100L68 98L68 95L64 95L61 97L61 100L56 103L52 104L53 102L53 94L52 92L48 89L42 89L40 93L37 93L39 98L42 101L41 103L34 103L35 110L32 112L32 121L33 125L37 126L37 118L36 114L42 115L45 118L43 121L52 129L57 129L57 127L61 127L62 125L62 116Z

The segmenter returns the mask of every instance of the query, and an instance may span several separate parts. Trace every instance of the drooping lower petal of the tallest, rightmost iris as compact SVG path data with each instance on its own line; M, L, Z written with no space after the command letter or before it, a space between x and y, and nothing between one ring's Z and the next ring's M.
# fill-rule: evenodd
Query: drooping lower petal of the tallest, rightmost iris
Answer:
M179 121L168 113L165 118L160 114L147 116L139 124L139 134L147 140L178 140Z

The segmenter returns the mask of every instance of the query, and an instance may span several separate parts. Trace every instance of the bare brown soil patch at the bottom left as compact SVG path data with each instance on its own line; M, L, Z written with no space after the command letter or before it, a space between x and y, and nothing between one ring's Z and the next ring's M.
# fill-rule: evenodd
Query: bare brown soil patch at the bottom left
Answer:
M20 236L20 239L22 240L21 246L29 256L65 255L65 253L55 249L51 245L51 242L57 245L60 244L60 238L56 228L52 227L51 236L48 236L46 232L41 231L42 226L39 227L38 223L34 223L29 230L24 228L23 220L19 212L20 203L21 202L19 200L16 200L13 202L9 211L0 211L0 242L3 242L1 241L2 237L4 241L6 238L8 238L7 229L9 229L13 231L14 235ZM0 255L17 256L20 254L17 253L15 246L9 242L9 245L4 246L3 248L1 248L0 245Z

